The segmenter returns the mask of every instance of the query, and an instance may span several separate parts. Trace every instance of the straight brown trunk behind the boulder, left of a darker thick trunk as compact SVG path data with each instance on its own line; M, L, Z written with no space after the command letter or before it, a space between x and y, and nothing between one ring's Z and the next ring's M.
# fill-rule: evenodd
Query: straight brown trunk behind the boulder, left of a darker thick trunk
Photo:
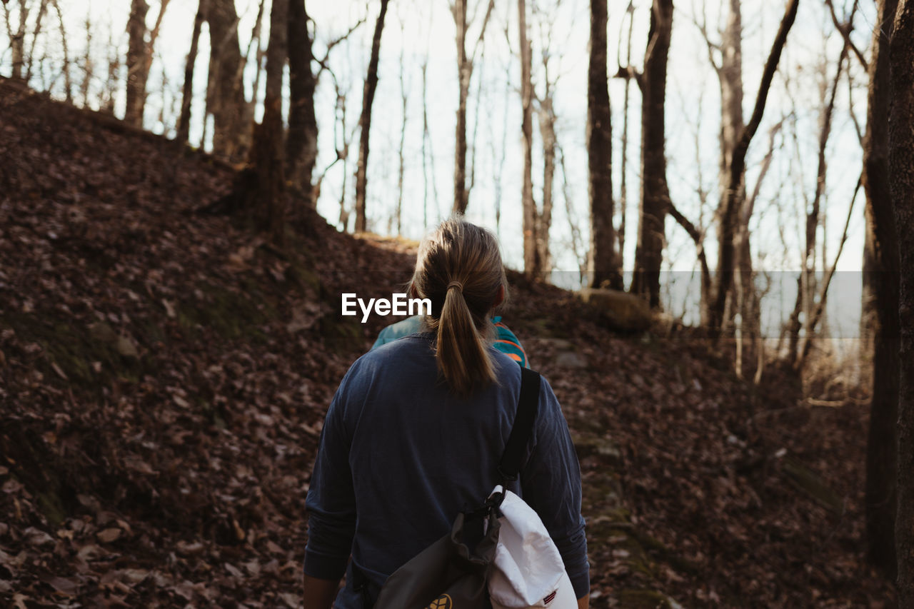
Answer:
M606 69L606 0L590 0L590 59L587 73L587 168L590 198L590 285L622 289L612 226L612 114Z

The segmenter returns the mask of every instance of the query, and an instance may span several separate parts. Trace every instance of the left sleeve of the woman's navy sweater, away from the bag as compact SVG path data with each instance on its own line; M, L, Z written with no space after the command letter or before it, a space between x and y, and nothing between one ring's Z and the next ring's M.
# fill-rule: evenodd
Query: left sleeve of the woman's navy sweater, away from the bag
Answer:
M327 409L304 504L308 512L304 572L324 580L343 576L356 533L356 497L349 468L352 435L345 425L352 371L346 373Z

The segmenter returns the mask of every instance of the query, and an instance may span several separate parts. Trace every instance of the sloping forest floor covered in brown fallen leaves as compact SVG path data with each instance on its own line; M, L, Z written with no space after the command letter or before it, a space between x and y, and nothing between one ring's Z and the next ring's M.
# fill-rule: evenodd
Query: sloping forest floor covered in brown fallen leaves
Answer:
M0 158L0 605L299 607L324 411L383 319L338 294L389 294L414 246L298 212L278 250L194 213L228 167L5 80ZM591 606L894 606L863 400L510 279L579 450Z

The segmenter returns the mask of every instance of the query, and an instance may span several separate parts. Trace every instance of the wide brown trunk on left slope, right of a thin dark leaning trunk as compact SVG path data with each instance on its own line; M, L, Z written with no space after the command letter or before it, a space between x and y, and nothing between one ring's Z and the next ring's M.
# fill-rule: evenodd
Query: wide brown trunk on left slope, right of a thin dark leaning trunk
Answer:
M244 158L250 125L243 124L239 17L234 0L208 0L209 83L207 113L213 115L213 154L231 162Z

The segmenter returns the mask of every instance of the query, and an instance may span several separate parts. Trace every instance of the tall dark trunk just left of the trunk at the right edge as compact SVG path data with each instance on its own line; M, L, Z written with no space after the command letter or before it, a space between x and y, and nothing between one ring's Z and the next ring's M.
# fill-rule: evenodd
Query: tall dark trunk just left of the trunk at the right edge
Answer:
M866 443L866 554L894 579L898 418L898 238L888 168L888 41L897 0L879 0L873 33L866 106L863 184L866 191L867 240L873 248L873 272L866 283L876 294L873 336L873 402Z

